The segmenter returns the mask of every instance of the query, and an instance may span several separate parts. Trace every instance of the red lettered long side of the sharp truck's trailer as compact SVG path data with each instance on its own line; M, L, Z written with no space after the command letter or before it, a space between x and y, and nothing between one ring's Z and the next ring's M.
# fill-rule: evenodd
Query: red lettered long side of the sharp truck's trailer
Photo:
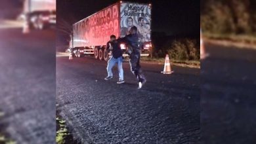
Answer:
M119 35L118 5L112 5L73 26L74 46L106 45L110 35Z

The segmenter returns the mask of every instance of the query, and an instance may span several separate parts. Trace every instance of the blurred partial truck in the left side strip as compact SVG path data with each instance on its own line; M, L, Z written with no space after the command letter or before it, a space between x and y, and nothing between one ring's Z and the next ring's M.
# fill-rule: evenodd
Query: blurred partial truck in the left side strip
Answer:
M35 29L55 25L56 0L24 0L22 17Z

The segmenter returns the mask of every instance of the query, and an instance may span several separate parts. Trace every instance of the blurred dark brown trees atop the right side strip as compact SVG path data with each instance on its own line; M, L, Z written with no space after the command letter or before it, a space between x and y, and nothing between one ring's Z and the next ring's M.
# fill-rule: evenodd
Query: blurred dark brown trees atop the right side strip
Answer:
M201 27L211 33L256 35L256 1L203 0Z

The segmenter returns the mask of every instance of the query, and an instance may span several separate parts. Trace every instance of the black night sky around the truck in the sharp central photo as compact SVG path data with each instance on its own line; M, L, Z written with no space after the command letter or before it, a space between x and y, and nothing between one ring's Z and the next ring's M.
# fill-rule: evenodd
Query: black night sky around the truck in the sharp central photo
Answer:
M200 0L130 0L152 4L152 32L167 35L198 35L200 33ZM118 1L116 0L57 0L57 26L75 22L94 14ZM58 41L67 34L58 31ZM65 37L65 38L64 38Z

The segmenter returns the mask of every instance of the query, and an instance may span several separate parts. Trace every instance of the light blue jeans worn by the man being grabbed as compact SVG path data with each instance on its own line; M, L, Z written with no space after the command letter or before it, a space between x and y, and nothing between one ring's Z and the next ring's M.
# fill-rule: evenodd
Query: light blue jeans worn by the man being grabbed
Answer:
M112 58L108 60L108 66L107 66L108 76L113 77L112 68L116 63L118 66L119 80L123 80L123 58L121 56L119 58L114 58L112 56Z

